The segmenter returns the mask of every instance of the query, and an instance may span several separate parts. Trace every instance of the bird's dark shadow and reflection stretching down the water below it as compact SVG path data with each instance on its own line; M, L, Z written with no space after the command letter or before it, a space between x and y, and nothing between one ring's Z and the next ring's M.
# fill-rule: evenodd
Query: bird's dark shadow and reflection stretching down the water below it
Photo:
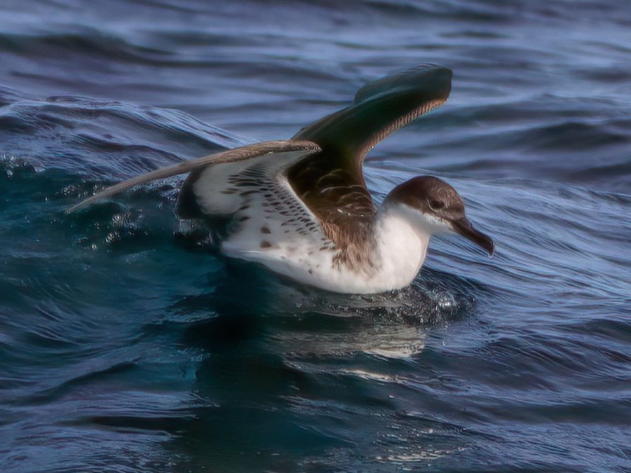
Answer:
M352 449L355 434L321 416L329 403L367 399L362 383L369 381L339 378L337 370L369 371L414 357L428 329L473 310L472 294L470 282L432 270L402 291L349 296L229 265L215 292L182 297L171 308L193 320L182 345L205 357L196 371L194 416L168 448L218 471L285 471L310 455ZM382 405L388 401L369 402L393 410ZM304 408L313 403L322 407Z

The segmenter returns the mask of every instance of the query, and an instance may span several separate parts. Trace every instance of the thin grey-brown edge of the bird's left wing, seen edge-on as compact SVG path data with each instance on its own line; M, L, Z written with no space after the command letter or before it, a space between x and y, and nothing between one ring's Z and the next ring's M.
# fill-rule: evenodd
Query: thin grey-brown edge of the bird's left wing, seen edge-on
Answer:
M250 146L241 146L240 148L229 149L228 151L222 151L221 153L211 154L204 156L203 158L191 159L184 161L169 167L163 167L155 171L142 174L127 181L120 182L114 186L105 188L103 191L96 193L94 196L88 197L86 200L73 205L66 213L79 210L96 200L102 198L114 196L122 191L126 191L129 188L140 186L151 181L157 181L159 179L166 179L167 177L176 176L178 174L186 174L195 170L201 170L209 165L226 164L226 163L238 163L243 160L250 160L258 158L259 156L265 156L276 153L287 153L296 151L299 152L297 156L308 156L312 153L320 151L320 147L313 142L306 141L275 141L275 142L262 142L252 144Z

